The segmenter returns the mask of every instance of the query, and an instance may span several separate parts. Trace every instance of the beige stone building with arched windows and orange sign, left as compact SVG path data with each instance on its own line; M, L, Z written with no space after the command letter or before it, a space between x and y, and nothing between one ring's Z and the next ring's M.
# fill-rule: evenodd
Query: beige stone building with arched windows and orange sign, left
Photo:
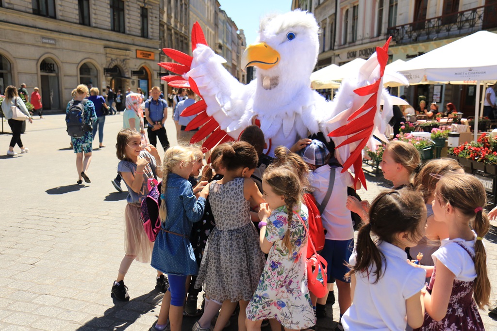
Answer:
M0 93L40 88L65 109L80 83L144 92L159 81L162 0L0 0Z

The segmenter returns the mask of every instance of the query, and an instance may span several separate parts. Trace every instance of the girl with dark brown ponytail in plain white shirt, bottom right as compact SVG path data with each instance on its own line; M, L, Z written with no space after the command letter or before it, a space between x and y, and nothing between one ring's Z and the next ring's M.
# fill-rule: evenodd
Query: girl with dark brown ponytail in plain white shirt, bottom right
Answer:
M424 201L413 190L386 191L373 200L349 260L352 306L341 319L344 330L421 326L426 273L408 263L405 249L421 239L425 224Z

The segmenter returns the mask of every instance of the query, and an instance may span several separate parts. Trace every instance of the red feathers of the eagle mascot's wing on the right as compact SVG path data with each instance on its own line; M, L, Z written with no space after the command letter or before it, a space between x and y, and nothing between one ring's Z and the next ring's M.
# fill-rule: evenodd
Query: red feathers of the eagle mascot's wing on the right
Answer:
M366 97L369 95L369 98L361 107L355 110L352 115L347 118L347 121L349 122L346 125L333 130L328 134L331 137L348 136L347 139L335 148L354 141L359 141L359 144L343 163L342 172L347 171L348 168L353 165L355 172L354 184L356 184L359 180L364 188L366 188L366 178L364 177L364 172L362 171L362 149L366 146L366 143L373 134L374 119L376 112L378 111L377 101L383 88L383 86L381 86L381 80L383 73L385 72L385 66L388 62L388 45L391 39L392 37L387 40L383 47L376 48L376 58L380 65L380 77L374 83L354 90L354 93L358 96Z

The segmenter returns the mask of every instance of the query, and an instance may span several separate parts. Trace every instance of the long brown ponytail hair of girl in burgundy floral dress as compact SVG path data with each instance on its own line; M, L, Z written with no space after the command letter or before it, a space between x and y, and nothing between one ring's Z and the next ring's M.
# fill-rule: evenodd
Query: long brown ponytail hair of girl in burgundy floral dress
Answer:
M489 232L490 222L487 213L483 209L479 210L487 204L487 194L483 184L476 177L469 174L444 176L438 182L435 192L436 199L442 204L450 203L466 216L478 237L483 238ZM483 308L489 304L490 280L487 272L487 252L482 240L476 241L475 254L474 298L478 307Z

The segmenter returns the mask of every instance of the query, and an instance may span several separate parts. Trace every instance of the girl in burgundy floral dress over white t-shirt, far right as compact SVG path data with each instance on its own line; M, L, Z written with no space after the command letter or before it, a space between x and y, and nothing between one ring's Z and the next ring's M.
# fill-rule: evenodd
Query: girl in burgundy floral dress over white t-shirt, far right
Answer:
M490 297L482 242L490 227L486 204L485 188L472 175L446 175L437 183L433 213L449 237L431 256L435 268L424 294L426 314L419 330L485 330L478 307L488 305Z

